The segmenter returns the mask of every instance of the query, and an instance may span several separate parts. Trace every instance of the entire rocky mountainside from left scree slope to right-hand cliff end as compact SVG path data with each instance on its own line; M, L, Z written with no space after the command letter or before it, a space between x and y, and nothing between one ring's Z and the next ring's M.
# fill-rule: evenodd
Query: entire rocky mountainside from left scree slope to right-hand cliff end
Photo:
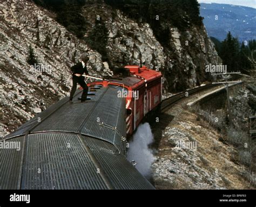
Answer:
M163 72L168 91L210 79L205 64L215 64L217 53L204 26L180 30L165 21L165 33L156 38L150 23L104 1L75 7L77 1L63 1L68 6L58 11L45 4L51 1L35 2L0 3L1 136L69 94L69 67L85 51L91 75L111 75L110 69L127 64L146 65ZM69 12L71 22L65 18ZM39 64L50 69L31 70L26 63L30 45Z

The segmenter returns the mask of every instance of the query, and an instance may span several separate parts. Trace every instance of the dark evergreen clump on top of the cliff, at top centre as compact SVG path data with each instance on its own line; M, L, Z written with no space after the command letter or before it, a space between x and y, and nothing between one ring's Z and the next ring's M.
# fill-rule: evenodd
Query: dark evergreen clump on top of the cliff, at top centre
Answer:
M154 31L159 31L161 23L171 23L180 30L187 29L188 22L201 25L197 0L105 0L114 8L122 10L127 16L149 23ZM156 20L160 16L160 21Z

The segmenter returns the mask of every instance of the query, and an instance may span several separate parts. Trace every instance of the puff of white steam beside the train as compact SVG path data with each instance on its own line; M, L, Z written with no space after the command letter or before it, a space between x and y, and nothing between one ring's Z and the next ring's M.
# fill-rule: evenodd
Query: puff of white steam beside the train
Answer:
M153 134L149 123L140 125L137 132L133 135L133 140L130 142L127 159L136 161L135 167L137 170L149 178L151 175L151 165L156 160L153 151L149 148L149 144L153 142Z

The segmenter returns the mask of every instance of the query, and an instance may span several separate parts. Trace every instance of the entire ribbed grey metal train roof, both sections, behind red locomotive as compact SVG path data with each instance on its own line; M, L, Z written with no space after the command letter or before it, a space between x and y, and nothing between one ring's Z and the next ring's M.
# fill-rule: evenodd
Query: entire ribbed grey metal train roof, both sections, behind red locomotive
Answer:
M0 189L153 189L126 160L117 91L102 87L84 103L77 91L5 137L21 150L0 149Z

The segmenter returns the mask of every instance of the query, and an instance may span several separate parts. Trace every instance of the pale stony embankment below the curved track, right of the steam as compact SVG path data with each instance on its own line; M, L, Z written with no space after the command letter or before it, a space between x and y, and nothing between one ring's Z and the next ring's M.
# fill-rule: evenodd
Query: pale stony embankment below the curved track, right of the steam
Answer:
M244 94L247 82L250 80L230 88L233 107L243 105L239 101L234 103L240 97L238 94ZM218 91L221 88L225 90L219 85L174 101L159 115L159 122L152 121L151 129L156 139L152 144L156 149L152 180L156 189L254 188L245 177L246 165L232 160L233 147L223 140L225 133L213 127L203 113L212 111L212 117L219 119L222 119L220 115L225 116L226 93ZM246 106L246 101L241 101ZM180 149L177 142L193 142L197 148Z

